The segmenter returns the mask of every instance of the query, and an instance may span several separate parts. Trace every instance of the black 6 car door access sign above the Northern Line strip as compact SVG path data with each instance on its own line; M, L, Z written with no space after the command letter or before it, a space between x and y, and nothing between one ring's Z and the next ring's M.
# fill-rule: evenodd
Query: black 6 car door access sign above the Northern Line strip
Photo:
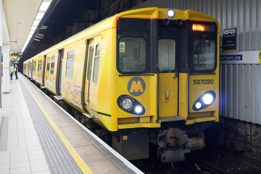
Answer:
M223 31L223 52L236 52L236 28Z

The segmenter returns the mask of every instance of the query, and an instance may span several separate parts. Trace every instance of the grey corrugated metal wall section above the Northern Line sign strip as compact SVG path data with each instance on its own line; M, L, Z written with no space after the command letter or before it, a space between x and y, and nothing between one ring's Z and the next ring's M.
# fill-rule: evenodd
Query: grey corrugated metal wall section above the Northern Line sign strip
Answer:
M261 0L148 0L131 9L146 7L191 9L208 14L219 21L221 36L223 29L237 27L237 51L261 49Z

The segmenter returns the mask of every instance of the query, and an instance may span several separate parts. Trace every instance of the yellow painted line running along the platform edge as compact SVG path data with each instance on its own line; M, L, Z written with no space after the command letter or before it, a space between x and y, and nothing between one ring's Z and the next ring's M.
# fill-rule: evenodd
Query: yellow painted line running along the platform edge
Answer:
M22 79L23 80L23 79ZM24 81L24 80L23 80ZM25 84L25 82L24 82ZM77 153L77 151L72 147L71 143L67 140L67 138L65 137L65 135L63 135L62 131L58 128L58 126L56 126L56 124L54 123L54 121L52 120L52 118L48 115L48 113L45 111L45 109L43 108L43 106L40 104L40 102L37 100L37 98L34 96L34 94L32 93L32 91L28 88L28 86L25 84L26 88L29 90L30 94L32 95L32 97L34 98L35 102L37 103L37 105L39 106L39 108L42 110L43 114L45 115L45 117L47 118L47 120L49 121L49 123L51 124L51 126L53 127L53 129L56 131L56 133L59 135L59 137L61 138L64 146L66 147L66 149L69 151L69 153L71 154L72 158L75 160L75 162L77 163L77 165L80 167L80 169L82 170L82 172L84 174L93 174L93 172L91 171L91 169L87 166L87 164L84 162L84 160L80 157L80 155Z

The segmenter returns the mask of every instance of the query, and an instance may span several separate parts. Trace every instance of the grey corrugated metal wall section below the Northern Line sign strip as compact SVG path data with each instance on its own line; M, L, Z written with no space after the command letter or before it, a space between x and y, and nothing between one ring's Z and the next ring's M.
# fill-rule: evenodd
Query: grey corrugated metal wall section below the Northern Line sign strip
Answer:
M261 124L261 64L220 64L220 115Z

